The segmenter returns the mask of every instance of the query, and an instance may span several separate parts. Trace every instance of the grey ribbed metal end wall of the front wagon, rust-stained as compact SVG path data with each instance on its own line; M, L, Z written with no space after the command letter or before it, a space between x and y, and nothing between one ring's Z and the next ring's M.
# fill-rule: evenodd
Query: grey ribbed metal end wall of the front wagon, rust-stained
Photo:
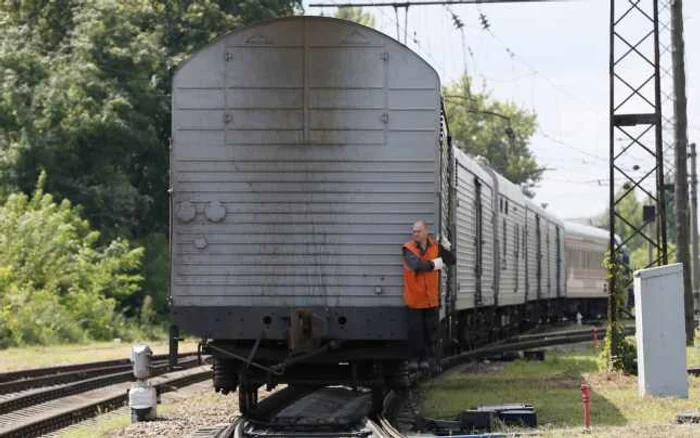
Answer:
M439 92L407 48L337 20L198 52L174 79L175 305L402 306L401 244L437 220Z

